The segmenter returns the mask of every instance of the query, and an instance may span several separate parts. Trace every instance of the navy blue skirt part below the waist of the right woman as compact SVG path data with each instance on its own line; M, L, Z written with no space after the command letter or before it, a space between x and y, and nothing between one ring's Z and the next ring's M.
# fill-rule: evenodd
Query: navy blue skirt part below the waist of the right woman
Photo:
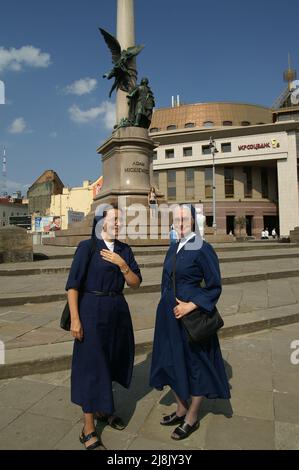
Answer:
M205 345L190 343L173 314L174 295L166 290L156 317L150 385L169 385L182 399L190 396L230 398L229 384L217 335Z

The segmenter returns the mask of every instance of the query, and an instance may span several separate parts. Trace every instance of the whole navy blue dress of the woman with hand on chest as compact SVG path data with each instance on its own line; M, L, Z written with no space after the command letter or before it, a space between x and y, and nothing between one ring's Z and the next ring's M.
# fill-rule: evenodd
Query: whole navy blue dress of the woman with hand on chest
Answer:
M85 268L92 240L79 243L69 277L68 289L82 289ZM122 292L125 279L120 269L100 255L107 249L103 240L96 240L96 252L89 264L85 289ZM115 240L118 253L142 281L132 249ZM99 297L93 293L79 294L79 315L83 327L83 341L75 339L71 374L71 400L84 413L102 411L113 414L112 382L128 388L134 365L134 333L128 304L122 294Z

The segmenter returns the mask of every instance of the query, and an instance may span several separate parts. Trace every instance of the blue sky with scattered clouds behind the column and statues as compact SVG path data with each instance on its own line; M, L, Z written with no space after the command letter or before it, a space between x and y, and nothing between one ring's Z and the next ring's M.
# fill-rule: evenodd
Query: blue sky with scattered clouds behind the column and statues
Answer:
M299 73L298 17L298 0L135 0L139 78L149 77L156 107L177 94L271 106L288 52ZM99 27L115 34L116 0L0 0L10 194L25 195L47 169L71 187L101 175L96 149L111 134L115 95Z

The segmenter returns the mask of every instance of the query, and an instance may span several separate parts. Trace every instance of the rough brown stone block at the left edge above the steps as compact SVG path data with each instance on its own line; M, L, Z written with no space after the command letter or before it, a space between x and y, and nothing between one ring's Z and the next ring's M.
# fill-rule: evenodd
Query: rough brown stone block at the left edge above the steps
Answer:
M16 225L0 228L0 263L33 261L32 235Z

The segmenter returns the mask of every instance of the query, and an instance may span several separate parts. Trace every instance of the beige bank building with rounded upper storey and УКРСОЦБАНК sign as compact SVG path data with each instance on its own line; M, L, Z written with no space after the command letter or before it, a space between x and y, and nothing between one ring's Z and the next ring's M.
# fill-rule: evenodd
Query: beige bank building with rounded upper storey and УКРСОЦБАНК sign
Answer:
M235 217L245 216L247 235L275 228L289 236L299 225L299 122L288 117L238 103L157 110L150 129L155 186L169 203L203 203L212 226L212 137L217 233L234 233Z

